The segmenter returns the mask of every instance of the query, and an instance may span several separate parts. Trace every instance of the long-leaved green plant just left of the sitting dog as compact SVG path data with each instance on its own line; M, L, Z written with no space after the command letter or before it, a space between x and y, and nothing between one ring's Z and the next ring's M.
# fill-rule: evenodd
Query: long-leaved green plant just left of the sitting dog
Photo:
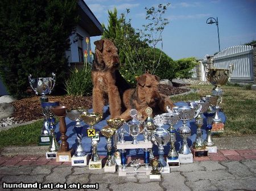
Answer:
M86 66L86 65L85 65ZM73 69L70 71L69 78L65 81L65 90L68 95L84 96L92 95L92 67L88 64L82 69Z

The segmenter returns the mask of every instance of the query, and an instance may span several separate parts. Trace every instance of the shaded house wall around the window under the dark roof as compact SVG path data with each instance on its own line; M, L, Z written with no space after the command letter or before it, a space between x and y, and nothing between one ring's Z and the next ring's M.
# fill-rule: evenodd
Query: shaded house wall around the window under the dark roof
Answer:
M86 32L80 26L77 26L76 32L73 35L69 36L71 45L70 45L70 49L66 51L66 57L68 58L69 66L70 66L70 63L72 62L79 62L78 45L77 45L77 42L74 42L76 33L79 33L79 35L81 35L84 38L84 40L82 40L82 52L84 52L84 50L88 48L85 42L85 39L86 37L90 37L89 33ZM90 42L89 42L89 48L88 48L88 62L90 61L89 50L90 50Z

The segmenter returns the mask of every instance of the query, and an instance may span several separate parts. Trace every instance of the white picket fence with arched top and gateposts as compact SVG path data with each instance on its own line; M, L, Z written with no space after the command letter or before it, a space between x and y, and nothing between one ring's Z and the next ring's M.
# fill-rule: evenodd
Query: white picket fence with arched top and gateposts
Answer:
M201 61L201 79L206 81L204 76L204 65L207 63L207 56ZM218 69L229 69L233 65L231 82L253 83L253 46L239 45L226 48L213 57L213 66ZM196 67L195 67L196 69ZM193 78L196 78L196 70L193 71Z

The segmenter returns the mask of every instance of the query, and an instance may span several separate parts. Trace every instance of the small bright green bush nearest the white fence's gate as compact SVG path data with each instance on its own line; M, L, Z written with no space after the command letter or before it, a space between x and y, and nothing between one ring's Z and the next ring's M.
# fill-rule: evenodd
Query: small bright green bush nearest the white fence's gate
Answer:
M195 67L198 62L196 58L189 57L189 58L181 58L180 60L176 61L177 68L175 77L176 78L191 78L192 72L191 70Z

